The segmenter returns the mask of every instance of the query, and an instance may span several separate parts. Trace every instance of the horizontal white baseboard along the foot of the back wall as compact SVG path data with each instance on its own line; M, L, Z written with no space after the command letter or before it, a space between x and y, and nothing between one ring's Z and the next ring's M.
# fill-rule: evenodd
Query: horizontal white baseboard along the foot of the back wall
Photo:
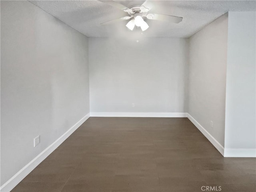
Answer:
M90 117L187 117L187 113L91 112Z

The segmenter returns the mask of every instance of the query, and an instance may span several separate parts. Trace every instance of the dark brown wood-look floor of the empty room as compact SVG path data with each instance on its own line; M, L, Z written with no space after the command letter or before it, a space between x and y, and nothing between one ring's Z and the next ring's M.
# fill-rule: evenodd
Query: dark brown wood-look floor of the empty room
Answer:
M255 192L255 183L256 158L224 158L187 118L90 117L12 192Z

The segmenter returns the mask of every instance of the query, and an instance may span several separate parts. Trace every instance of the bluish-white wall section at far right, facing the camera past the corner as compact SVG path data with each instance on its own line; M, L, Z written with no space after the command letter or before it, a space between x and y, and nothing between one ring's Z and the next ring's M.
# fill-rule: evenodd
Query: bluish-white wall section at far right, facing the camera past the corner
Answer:
M255 154L255 17L255 12L228 15L225 155L226 148Z

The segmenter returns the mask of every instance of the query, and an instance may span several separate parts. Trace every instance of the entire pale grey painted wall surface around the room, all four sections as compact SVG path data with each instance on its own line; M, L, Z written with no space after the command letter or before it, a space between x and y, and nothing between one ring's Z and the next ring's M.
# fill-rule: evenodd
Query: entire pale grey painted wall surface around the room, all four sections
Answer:
M178 38L89 38L88 55L84 35L1 1L1 185L89 112L88 56L91 112L189 112L224 146L226 95L225 148L255 148L255 12L230 16L189 39L189 61Z

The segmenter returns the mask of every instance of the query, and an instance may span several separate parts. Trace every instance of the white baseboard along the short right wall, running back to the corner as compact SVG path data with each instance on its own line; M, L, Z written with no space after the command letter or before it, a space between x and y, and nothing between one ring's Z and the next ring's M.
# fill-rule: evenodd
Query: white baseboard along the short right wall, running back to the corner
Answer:
M204 136L213 144L213 146L224 156L224 147L202 127L190 114L187 114L188 119L204 134Z

